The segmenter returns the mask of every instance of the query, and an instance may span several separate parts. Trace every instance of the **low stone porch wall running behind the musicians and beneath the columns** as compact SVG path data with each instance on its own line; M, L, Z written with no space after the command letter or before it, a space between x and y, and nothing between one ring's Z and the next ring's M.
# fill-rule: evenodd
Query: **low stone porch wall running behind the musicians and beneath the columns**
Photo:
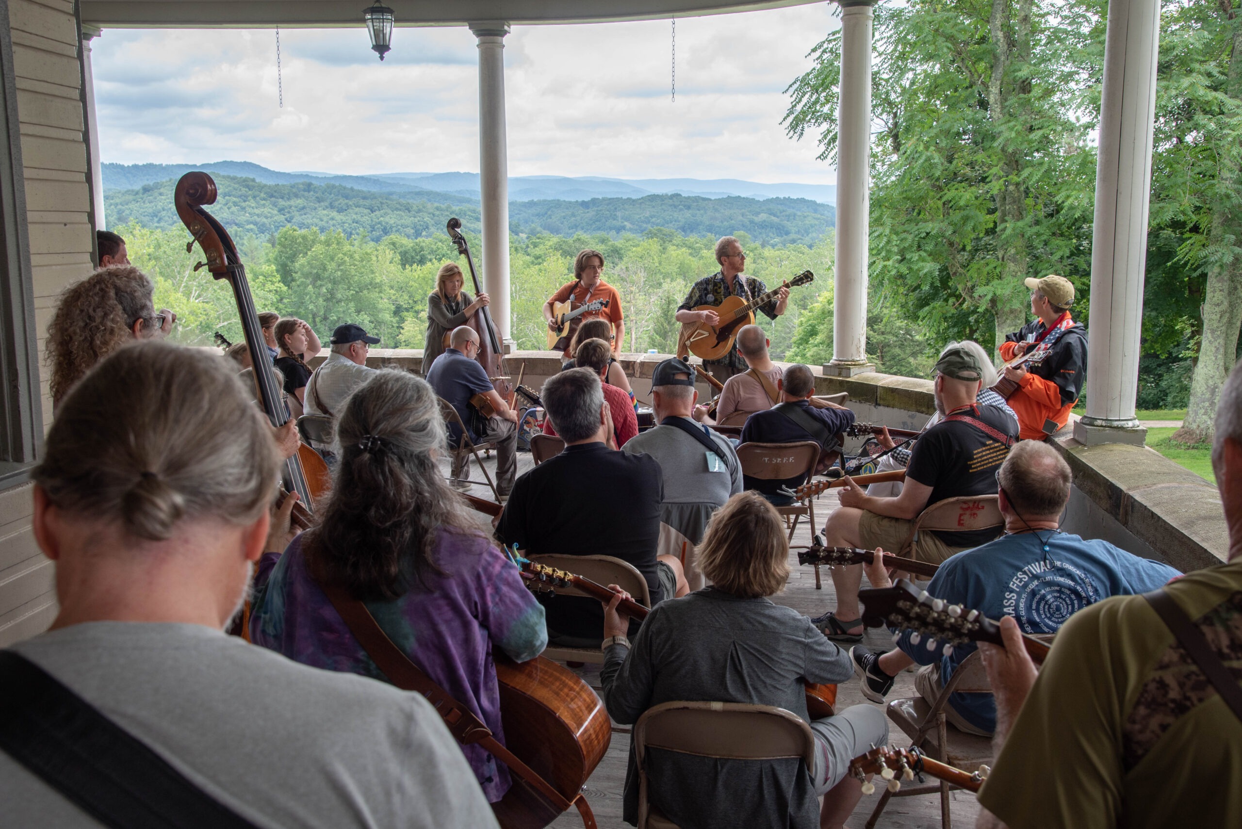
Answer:
M327 351L315 357L317 365ZM667 359L662 354L623 354L619 357L630 376L635 395L651 400L651 372ZM505 357L510 375L535 391L560 371L560 355L553 351L515 351ZM422 351L374 349L368 365L419 371ZM693 359L692 362L698 362ZM847 405L859 421L918 429L935 411L930 380L862 374L854 377L825 377L812 366L816 392L848 392ZM699 396L712 396L705 383ZM1069 463L1074 490L1066 510L1063 529L1084 537L1105 539L1124 550L1169 562L1182 571L1199 570L1225 561L1228 531L1220 493L1195 473L1148 447L1109 443L1087 447L1062 429L1056 446Z

